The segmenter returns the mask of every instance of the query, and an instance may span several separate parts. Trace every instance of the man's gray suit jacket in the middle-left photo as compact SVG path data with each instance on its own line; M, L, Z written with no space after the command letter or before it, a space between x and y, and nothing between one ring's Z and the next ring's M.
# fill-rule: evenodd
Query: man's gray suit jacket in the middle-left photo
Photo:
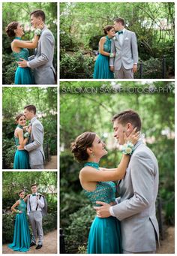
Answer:
M40 165L45 159L43 152L43 125L35 117L31 120L31 135L25 149L29 153L29 164Z

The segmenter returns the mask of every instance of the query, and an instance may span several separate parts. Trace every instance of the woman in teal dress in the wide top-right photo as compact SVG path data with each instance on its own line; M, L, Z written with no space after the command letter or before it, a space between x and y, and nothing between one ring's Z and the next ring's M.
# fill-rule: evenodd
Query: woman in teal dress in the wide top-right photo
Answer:
M111 53L111 40L115 35L113 26L104 28L105 37L99 42L99 55L95 62L94 78L113 79L114 74L110 71L110 57L113 58L115 53Z

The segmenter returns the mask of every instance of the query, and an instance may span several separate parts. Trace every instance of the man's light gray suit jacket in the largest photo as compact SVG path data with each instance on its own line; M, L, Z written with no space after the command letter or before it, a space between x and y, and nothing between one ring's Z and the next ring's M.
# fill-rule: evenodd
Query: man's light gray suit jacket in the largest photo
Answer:
M154 153L142 140L136 143L127 173L118 182L119 203L113 212L121 221L125 251L155 251L159 240L155 200L158 191L158 164Z

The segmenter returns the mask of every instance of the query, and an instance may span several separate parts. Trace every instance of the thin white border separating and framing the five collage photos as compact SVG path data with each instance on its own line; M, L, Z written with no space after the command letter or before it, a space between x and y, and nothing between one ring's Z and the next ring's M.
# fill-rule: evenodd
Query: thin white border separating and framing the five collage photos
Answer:
M61 2L175 2L175 1L165 1L165 0L157 0L157 1L152 1L152 0L148 0L148 1L145 1L145 0L129 0L129 1L126 1L126 0L119 0L119 1L116 1L116 0L87 0L87 1L83 1L83 0L71 0L71 1L51 1L51 0L37 0L37 1L30 1L30 0L6 0L6 1L3 1L3 2L57 2L58 3L58 47L57 47L57 54L58 54L58 84L55 85L55 86L51 86L51 87L58 87L58 100L57 100L57 104L58 104L58 141L57 141L57 150L58 150L58 157L57 157L57 170L51 170L51 171L57 171L58 173L58 218L57 218L57 251L58 251L58 254L59 254L59 212L60 212L60 207L59 207L59 128L60 128L60 123L59 123L59 83L60 82L65 82L65 81L89 81L91 82L91 80L89 79L81 79L81 80L78 80L78 79L75 79L75 80L71 80L71 79L61 79L59 80L59 3ZM176 10L177 10L177 2L175 3L175 18L176 18ZM0 2L0 31L2 31L2 2ZM175 20L175 35L176 35L176 20ZM0 36L0 49L1 49L1 52L2 52L2 34ZM176 36L175 36L176 38ZM176 53L176 50L177 50L177 41L175 40L175 60L176 60L176 57L177 57L177 53ZM1 80L0 80L0 115L2 116L2 55L1 55L1 58L0 58L0 74L1 74ZM177 76L177 65L175 65L175 75ZM175 79L176 80L176 79ZM105 81L105 80L92 80L92 81ZM107 81L116 81L116 80L107 80ZM128 80L118 80L119 82L120 81L128 81ZM143 81L143 80L139 80L139 79L135 79L133 81ZM164 81L164 80L145 80L145 81ZM173 79L171 80L165 80L165 81L174 81ZM3 87L12 87L12 86L3 86ZM18 86L16 86L18 87ZM24 87L49 87L49 86L34 86L34 85L31 85L31 86L24 86ZM176 93L176 89L175 89L175 93ZM175 110L176 110L176 107L177 107L177 103L176 103L176 97L175 97ZM176 111L175 111L175 120L176 120ZM164 116L165 118L165 116ZM0 117L0 120L2 121L1 117ZM0 137L2 138L2 122L0 122ZM175 151L177 149L176 147L176 141L175 141ZM0 161L0 168L2 170L2 140L0 140L0 158L1 158L1 161ZM175 157L175 163L176 163L176 157ZM8 171L8 170L4 170L4 171ZM14 170L16 171L16 170ZM47 171L50 171L50 170L47 170ZM176 172L176 168L175 168L175 172ZM175 174L175 178L176 178L176 174ZM2 198L2 171L1 171L1 174L0 174L0 198ZM177 196L177 192L176 192L176 189L175 189L175 197ZM176 197L177 198L177 197ZM175 203L175 220L176 220L176 203ZM0 202L0 209L2 209L2 200ZM1 235L0 235L0 254L2 254L2 214L0 214L0 230L1 230ZM176 245L176 229L175 229L175 245ZM21 253L17 253L18 255L26 255L26 254L21 254ZM5 255L5 254L4 254ZM14 255L14 254L7 254L7 255ZM31 255L35 255L35 254L31 254ZM42 254L40 254L42 255ZM55 254L44 254L44 255L55 255ZM76 254L61 254L61 255L76 255ZM86 255L86 254L80 254L80 255ZM92 254L93 255L93 254ZM107 254L99 254L99 255L105 255L107 256ZM118 255L118 254L111 254L111 255ZM133 255L133 254L131 254ZM145 254L143 254L145 255ZM161 255L167 255L167 254L161 254Z

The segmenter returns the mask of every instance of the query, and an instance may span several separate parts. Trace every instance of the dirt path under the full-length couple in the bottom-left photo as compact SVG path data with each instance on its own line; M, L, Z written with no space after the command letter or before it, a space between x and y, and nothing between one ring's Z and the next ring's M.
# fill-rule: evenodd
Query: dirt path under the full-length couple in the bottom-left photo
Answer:
M32 246L29 251L13 251L7 245L2 246L2 253L5 254L57 254L57 230L47 233L43 239L43 247L39 250Z

